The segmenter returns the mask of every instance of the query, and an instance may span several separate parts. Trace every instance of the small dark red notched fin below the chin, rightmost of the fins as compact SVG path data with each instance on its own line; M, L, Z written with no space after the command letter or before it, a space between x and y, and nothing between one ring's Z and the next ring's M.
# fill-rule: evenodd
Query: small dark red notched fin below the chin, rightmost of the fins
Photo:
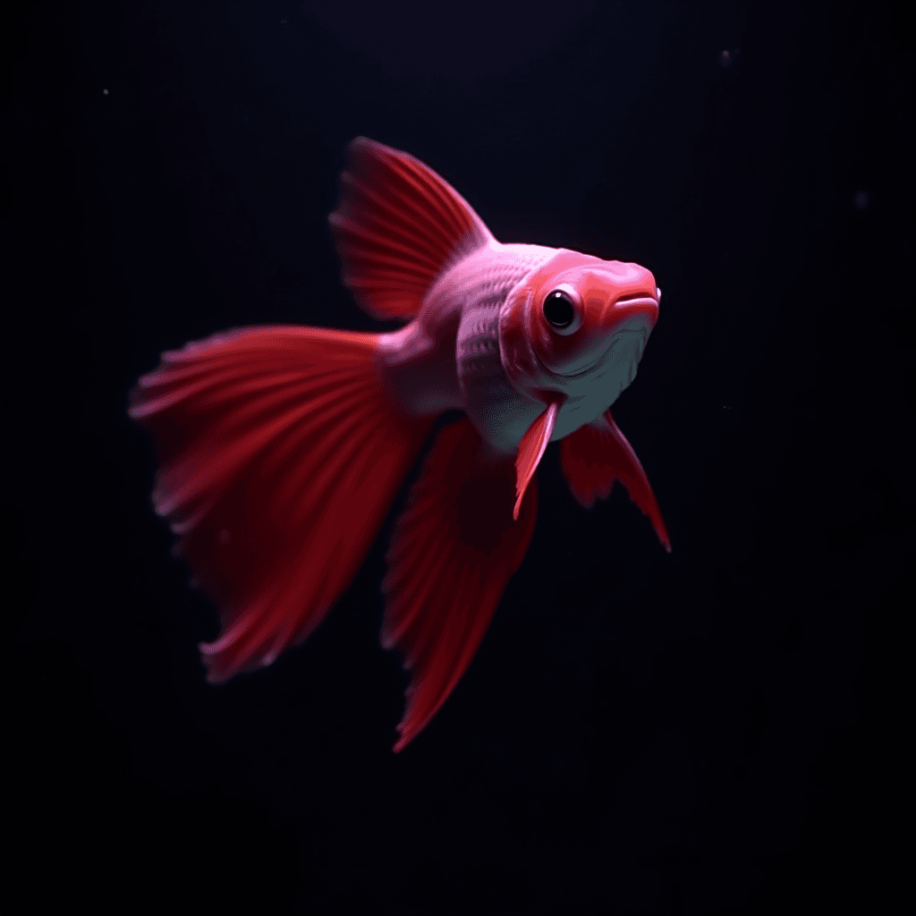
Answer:
M595 496L606 499L614 481L627 488L630 499L649 516L661 545L671 553L671 539L661 510L636 453L617 428L611 411L566 436L560 444L560 462L573 496L590 508Z

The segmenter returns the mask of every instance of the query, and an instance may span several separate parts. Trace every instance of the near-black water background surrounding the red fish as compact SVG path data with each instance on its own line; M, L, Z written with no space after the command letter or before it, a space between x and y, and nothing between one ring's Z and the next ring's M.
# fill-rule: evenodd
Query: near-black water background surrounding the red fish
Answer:
M35 911L885 911L914 503L893 8L5 9L7 865ZM215 611L125 414L188 340L376 327L325 223L357 135L500 240L664 292L615 414L671 556L619 490L578 507L551 448L529 555L399 755L403 493L306 646L208 686Z

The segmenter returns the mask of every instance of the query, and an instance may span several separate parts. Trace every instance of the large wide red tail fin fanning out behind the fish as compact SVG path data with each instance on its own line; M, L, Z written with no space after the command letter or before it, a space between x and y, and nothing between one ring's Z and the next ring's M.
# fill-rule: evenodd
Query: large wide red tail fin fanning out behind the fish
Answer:
M270 664L321 623L429 426L398 420L376 335L247 328L162 354L131 392L153 432L153 502L219 607L208 680Z

